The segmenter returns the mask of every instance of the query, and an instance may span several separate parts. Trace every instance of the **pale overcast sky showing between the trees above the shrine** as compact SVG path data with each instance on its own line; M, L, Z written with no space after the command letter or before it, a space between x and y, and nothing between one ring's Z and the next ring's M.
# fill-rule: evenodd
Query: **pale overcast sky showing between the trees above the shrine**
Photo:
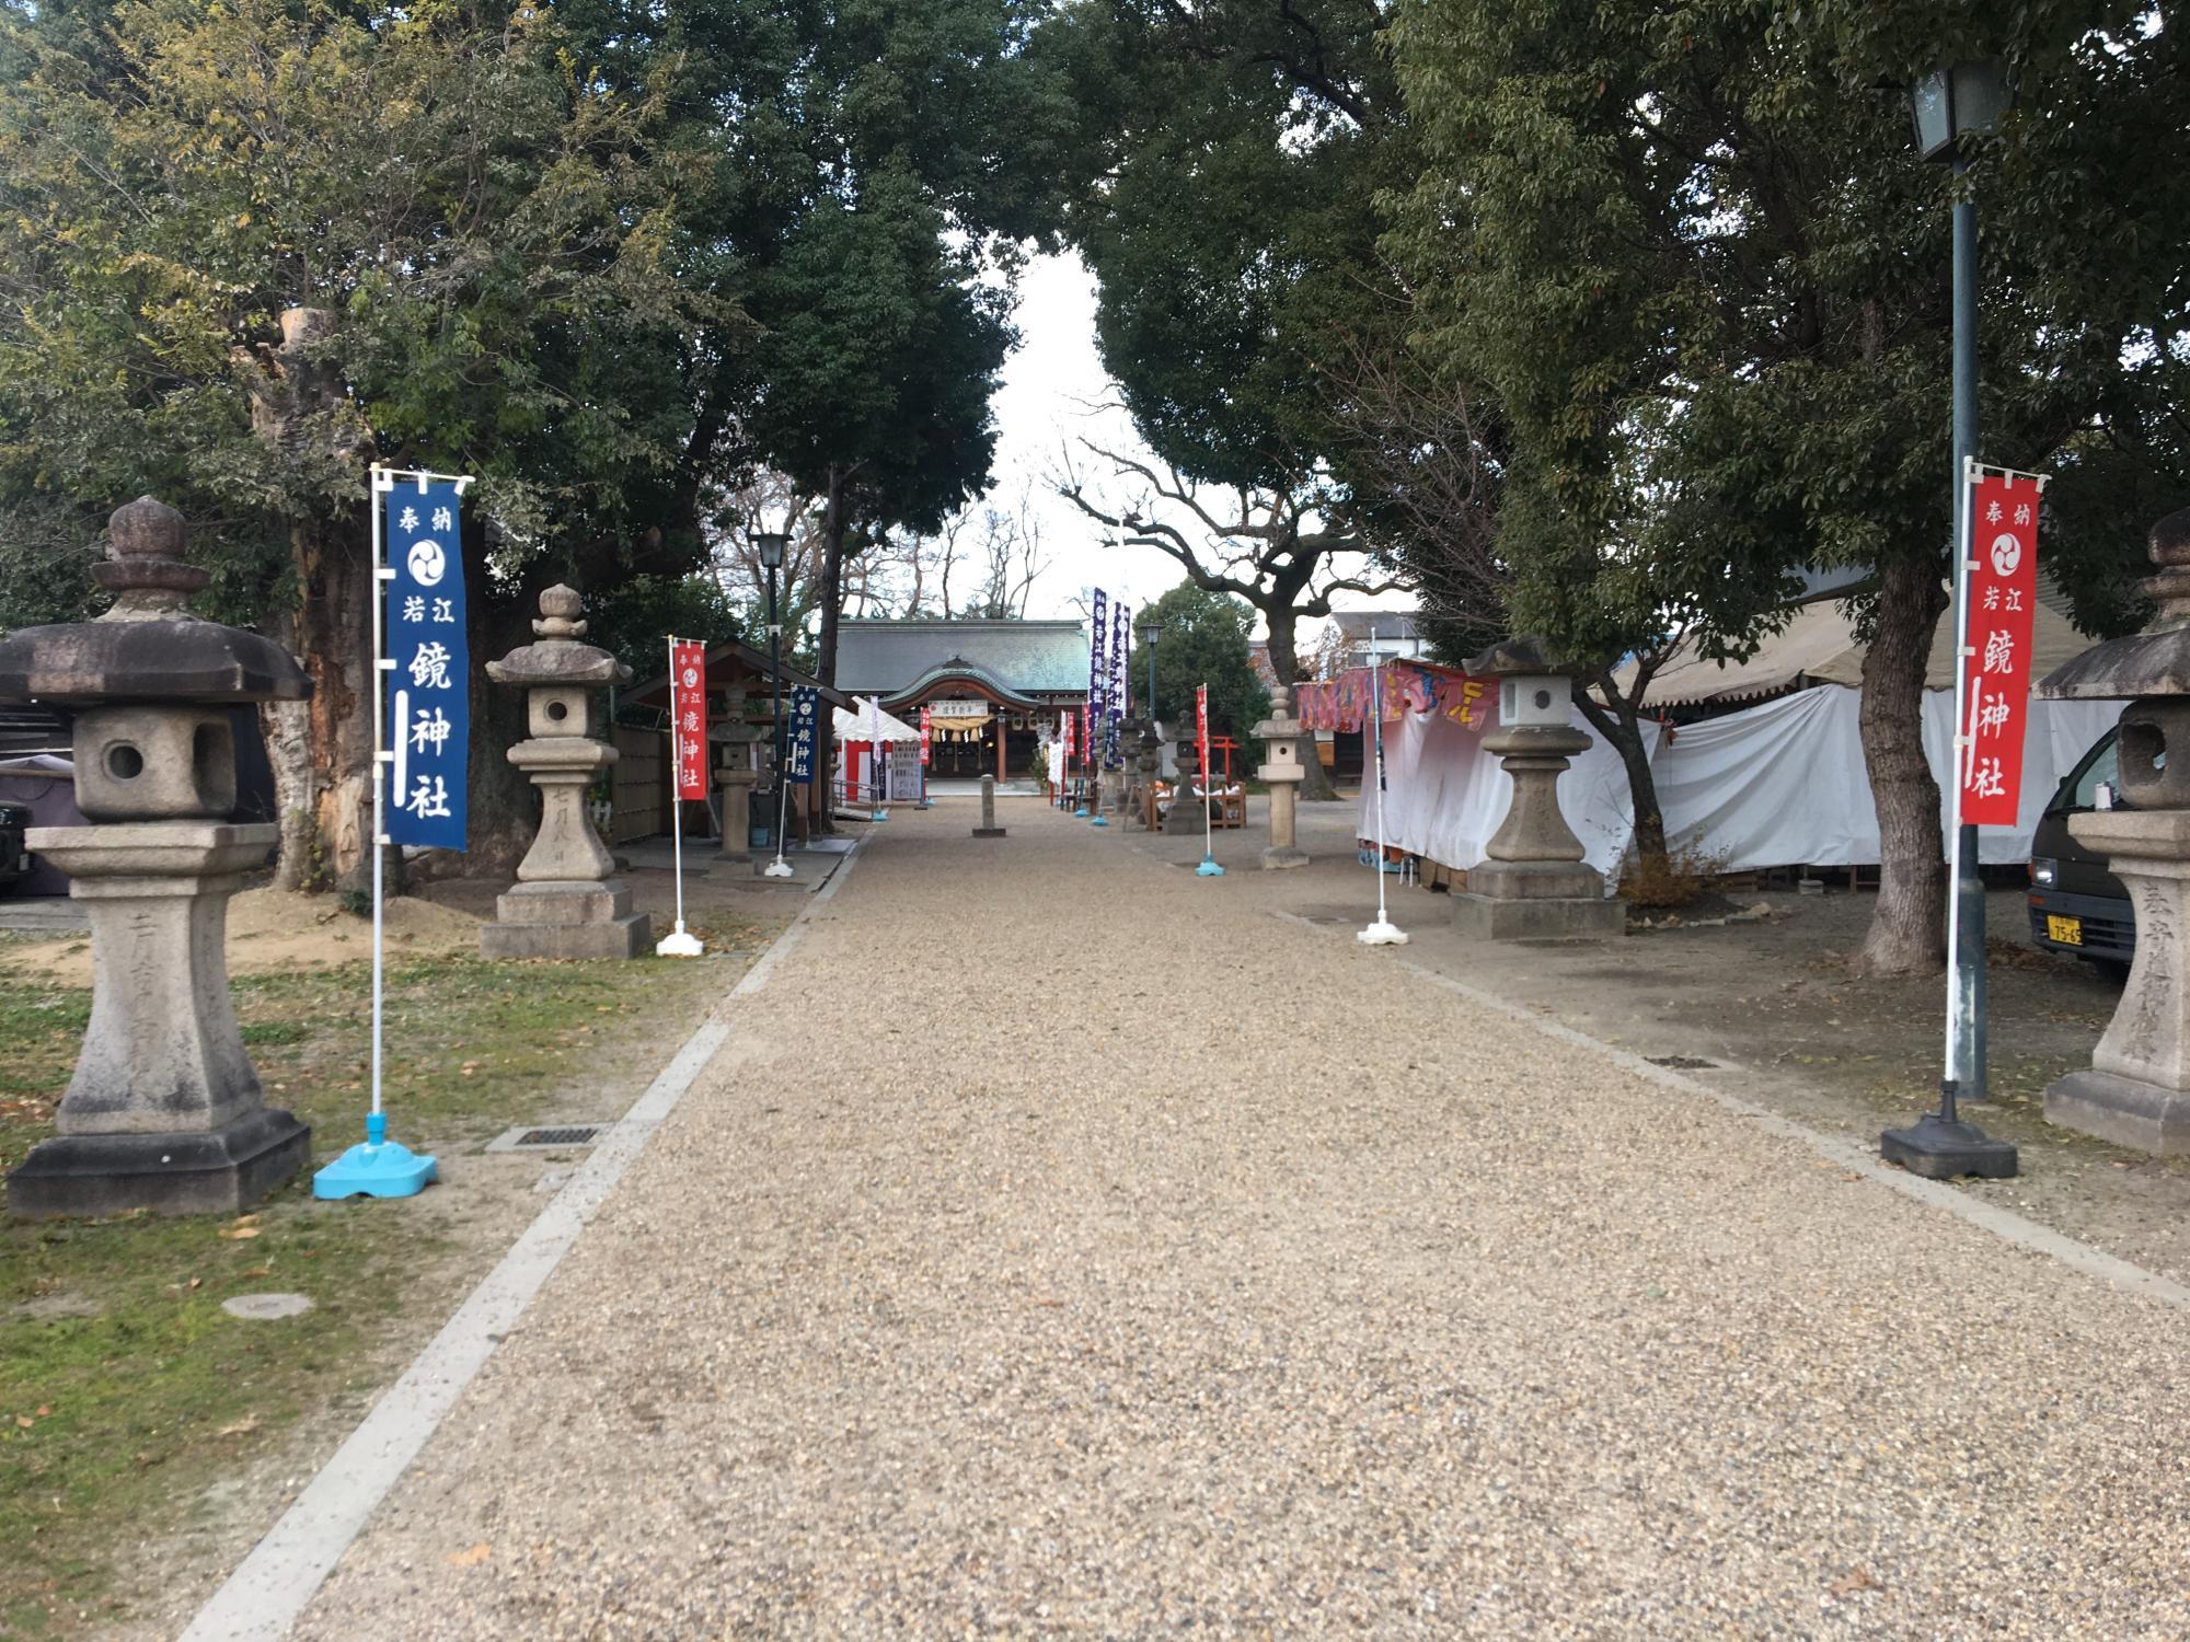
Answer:
M1088 587L1139 609L1185 574L1154 547L1104 547L1102 525L1056 493L1062 451L1071 444L1091 497L1106 479L1080 440L1148 455L1132 420L1117 407L1117 392L1095 352L1095 278L1077 256L1038 256L1021 278L1021 344L1003 366L996 392L996 488L990 506L1018 510L1021 495L1040 521L1049 569L1034 585L1027 615L1080 615L1075 600ZM1115 499L1130 493L1110 486ZM1340 609L1410 609L1413 598L1362 600L1340 595ZM1312 641L1301 624L1299 641Z

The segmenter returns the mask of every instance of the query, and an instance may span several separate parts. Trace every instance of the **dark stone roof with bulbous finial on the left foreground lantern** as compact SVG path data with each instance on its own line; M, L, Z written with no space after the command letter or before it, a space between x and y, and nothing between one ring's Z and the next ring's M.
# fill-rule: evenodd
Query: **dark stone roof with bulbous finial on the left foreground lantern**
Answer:
M184 521L138 497L107 521L107 563L92 578L114 593L96 622L28 626L0 639L0 701L96 707L118 701L302 701L311 681L272 639L206 622L188 598L210 578L182 558Z

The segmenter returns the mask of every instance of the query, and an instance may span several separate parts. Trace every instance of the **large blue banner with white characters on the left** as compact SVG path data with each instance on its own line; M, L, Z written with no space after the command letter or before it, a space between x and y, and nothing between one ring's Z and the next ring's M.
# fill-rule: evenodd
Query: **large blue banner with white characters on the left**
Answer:
M388 839L464 847L471 648L464 641L464 504L453 484L381 495L388 587Z

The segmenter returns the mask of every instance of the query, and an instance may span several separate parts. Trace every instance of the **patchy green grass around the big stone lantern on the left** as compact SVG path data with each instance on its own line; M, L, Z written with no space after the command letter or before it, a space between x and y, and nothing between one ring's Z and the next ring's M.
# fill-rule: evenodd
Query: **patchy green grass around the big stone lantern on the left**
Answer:
M396 1138L469 1152L602 1068L644 1084L773 933L710 924L745 957L392 968ZM267 1101L313 1125L320 1163L364 1138L366 976L353 963L234 981ZM88 1014L83 990L0 985L0 1169L53 1132ZM0 1224L0 1638L114 1629L129 1548L206 1511L212 1482L269 1465L300 1419L361 1408L499 1252L466 1246L447 1211L322 1204L309 1180L234 1222ZM280 1322L221 1311L263 1290L313 1309Z

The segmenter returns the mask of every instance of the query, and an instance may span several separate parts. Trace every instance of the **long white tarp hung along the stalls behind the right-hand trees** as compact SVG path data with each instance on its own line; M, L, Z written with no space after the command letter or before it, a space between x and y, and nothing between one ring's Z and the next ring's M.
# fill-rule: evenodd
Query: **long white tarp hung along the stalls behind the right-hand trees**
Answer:
M1651 773L1667 839L1710 854L1721 871L1750 867L1870 867L1879 860L1879 823L1870 806L1859 692L1818 685L1724 718L1680 727L1671 740L1651 736ZM2030 834L2061 777L2120 716L2109 701L2032 701L2024 742L2024 801L2017 825L1984 828L1980 856L1989 865L2030 858ZM1923 744L1940 784L1940 839L1947 836L1947 758L1953 742L1953 692L1927 690ZM1579 714L1577 714L1579 725ZM1483 845L1505 817L1511 782L1483 736L1443 716L1404 718L1384 727L1391 768L1386 836L1402 849L1448 867L1483 860ZM1375 836L1373 784L1362 788L1360 836ZM1559 808L1607 876L1634 834L1627 773L1603 744L1592 744L1559 777Z

